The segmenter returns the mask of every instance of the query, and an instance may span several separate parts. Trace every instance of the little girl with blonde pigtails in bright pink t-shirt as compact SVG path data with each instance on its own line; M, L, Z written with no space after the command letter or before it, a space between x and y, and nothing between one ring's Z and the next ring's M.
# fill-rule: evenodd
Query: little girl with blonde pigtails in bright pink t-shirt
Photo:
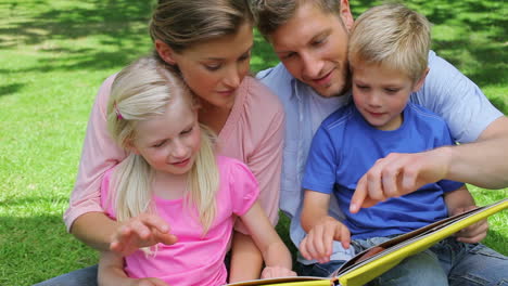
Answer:
M178 242L125 258L103 252L100 285L164 285L154 277L170 285L227 283L224 259L236 216L263 253L262 276L295 275L288 248L256 203L254 176L237 159L214 155L212 132L198 122L191 92L165 64L143 57L116 76L107 127L130 155L106 171L102 207L118 221L156 213ZM139 280L131 282L123 268Z

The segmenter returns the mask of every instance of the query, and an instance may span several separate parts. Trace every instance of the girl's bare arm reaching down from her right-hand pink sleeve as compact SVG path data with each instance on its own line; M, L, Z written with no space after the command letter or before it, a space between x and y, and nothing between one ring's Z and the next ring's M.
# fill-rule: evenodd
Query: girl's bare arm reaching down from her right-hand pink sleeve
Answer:
M296 273L291 271L293 265L291 253L259 204L254 203L241 219L265 260L266 269L262 277L295 276Z

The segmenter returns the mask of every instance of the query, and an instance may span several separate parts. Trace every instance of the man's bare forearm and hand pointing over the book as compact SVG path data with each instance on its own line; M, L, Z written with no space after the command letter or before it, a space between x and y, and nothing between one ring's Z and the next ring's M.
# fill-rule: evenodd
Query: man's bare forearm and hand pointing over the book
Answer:
M369 207L443 179L485 188L508 186L508 118L494 120L475 142L416 154L393 153L378 160L358 182L351 211Z

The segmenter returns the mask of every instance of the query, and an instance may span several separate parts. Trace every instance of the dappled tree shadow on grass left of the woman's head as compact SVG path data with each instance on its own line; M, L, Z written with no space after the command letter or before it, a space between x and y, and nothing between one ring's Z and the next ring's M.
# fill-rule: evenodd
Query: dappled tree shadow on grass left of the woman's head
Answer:
M69 5L64 1L58 1L60 5L51 4L50 0L10 2L0 8L11 16L9 25L0 28L0 48L34 46L39 54L58 54L41 58L30 68L11 73L109 69L148 52L143 49L151 44L148 23L154 1L90 0ZM29 11L28 16L24 11ZM99 40L101 48L49 43L87 38Z

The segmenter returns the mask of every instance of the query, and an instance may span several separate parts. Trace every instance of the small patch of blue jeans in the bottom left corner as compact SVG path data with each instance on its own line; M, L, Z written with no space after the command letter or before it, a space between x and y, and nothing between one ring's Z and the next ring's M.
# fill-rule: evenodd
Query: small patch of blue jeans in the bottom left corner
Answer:
M97 286L97 265L79 269L33 286Z

